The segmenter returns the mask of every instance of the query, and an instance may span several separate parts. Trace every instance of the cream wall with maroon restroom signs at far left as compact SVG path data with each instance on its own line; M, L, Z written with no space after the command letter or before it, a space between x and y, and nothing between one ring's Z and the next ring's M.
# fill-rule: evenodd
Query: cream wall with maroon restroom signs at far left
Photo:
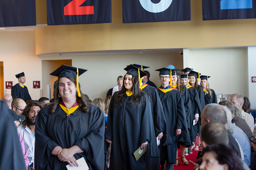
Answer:
M24 72L27 80L24 85L31 98L40 98L40 89L33 89L33 81L41 81L42 88L41 60L35 55L34 31L0 32L0 61L4 62L4 84L5 81L17 84L15 75ZM4 90L11 94L11 89L5 89L5 85Z

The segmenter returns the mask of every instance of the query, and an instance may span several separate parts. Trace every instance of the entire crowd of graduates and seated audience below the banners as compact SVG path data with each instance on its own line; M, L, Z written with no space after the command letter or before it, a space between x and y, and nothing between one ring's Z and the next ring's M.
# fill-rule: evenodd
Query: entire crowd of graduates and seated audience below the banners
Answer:
M247 97L217 103L210 76L172 65L156 70L157 88L147 68L124 68L105 100L81 92L84 69L62 65L52 72L58 80L51 100L31 100L25 74L16 75L12 95L0 101L0 169L62 170L83 157L90 170L172 170L181 164L178 148L184 165L202 150L194 169L256 169Z

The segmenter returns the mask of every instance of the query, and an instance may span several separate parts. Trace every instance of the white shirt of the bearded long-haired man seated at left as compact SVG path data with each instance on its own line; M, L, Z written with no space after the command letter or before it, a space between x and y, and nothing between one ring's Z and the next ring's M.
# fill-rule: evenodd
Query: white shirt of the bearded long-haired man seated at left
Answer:
M20 134L23 137L23 142L27 149L27 156L28 156L29 165L30 165L35 161L35 137L32 135L28 126L26 126L25 129L22 126L19 126L18 132L20 132ZM35 167L35 163L33 167Z

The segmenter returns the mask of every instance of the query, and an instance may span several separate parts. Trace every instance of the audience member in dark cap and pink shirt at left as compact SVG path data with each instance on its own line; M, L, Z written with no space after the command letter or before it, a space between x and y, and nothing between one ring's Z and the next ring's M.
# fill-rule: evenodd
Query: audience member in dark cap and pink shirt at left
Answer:
M16 128L18 129L19 124L20 124L19 121L24 121L25 116L24 115L17 115L16 112L14 112L13 110L9 110L9 112L12 115L12 118L14 120L14 124L15 124ZM23 138L22 138L22 136L19 132L18 132L18 136L20 138L20 146L21 146L22 154L23 154L23 157L24 157L24 160L25 160L25 165L26 165L26 168L28 168L29 159L28 159L28 156L27 156L27 149L24 145Z

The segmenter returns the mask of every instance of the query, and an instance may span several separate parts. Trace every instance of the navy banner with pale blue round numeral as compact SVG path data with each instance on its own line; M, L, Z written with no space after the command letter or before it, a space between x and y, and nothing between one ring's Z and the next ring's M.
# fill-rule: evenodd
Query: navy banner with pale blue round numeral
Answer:
M122 0L123 23L191 20L190 0Z

